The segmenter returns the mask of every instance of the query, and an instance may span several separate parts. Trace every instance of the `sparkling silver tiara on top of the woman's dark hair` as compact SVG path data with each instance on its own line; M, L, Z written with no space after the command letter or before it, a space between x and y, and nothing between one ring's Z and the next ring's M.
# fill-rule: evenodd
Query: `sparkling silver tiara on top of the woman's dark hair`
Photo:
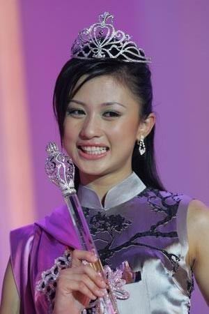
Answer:
M150 63L144 50L137 47L130 36L116 31L114 15L108 12L99 15L99 22L79 32L71 47L71 57L76 59L120 59L125 62Z

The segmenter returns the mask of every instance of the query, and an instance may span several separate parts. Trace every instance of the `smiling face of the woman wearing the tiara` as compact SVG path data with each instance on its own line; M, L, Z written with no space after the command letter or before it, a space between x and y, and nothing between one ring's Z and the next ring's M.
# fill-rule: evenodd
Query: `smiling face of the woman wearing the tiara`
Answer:
M83 184L85 176L116 181L132 172L139 122L139 102L114 77L95 77L77 91L66 112L63 145Z

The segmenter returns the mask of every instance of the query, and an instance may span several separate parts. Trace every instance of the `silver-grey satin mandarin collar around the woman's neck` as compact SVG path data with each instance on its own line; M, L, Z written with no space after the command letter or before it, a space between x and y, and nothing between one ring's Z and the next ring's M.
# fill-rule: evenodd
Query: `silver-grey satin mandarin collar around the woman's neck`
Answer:
M132 172L129 177L113 186L108 192L104 200L104 206L100 202L100 198L97 193L88 186L79 185L77 196L82 207L88 207L92 209L110 209L116 207L119 204L127 202L132 197L141 193L146 186L139 179L137 174Z

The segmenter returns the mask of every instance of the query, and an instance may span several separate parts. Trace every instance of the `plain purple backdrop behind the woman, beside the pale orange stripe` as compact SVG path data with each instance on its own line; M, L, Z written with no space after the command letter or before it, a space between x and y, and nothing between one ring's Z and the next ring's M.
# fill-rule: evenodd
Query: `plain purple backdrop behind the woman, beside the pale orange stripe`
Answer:
M105 10L115 26L152 57L157 112L157 161L168 190L208 202L209 1L20 0L29 100L37 218L62 201L44 173L45 146L59 140L52 113L56 75L69 59L77 31ZM196 289L192 313L206 303Z

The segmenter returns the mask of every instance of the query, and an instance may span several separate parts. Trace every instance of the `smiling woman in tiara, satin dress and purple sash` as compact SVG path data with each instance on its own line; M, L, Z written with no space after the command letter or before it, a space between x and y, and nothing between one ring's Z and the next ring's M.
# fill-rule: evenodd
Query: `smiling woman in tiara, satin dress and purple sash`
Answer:
M209 304L208 210L164 191L154 158L150 60L111 19L104 13L79 34L56 81L61 142L76 165L100 259L111 267L119 312L189 313L193 274ZM78 249L66 207L11 232L10 241L1 314L93 313L106 283L84 262L95 256Z

